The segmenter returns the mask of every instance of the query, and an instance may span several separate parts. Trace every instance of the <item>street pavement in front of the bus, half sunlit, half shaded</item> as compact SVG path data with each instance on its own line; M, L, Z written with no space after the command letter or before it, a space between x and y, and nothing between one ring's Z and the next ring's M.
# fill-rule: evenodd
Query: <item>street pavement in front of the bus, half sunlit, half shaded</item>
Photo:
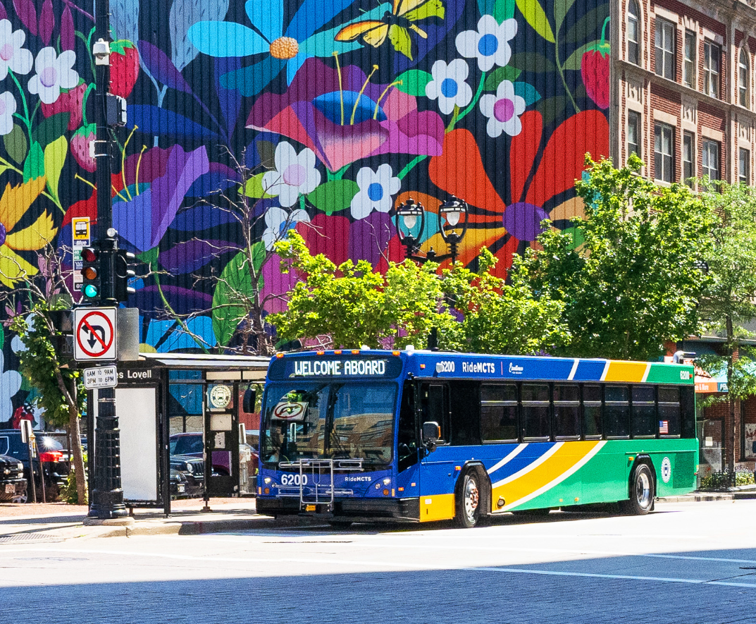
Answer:
M2 621L756 622L756 501L0 545Z

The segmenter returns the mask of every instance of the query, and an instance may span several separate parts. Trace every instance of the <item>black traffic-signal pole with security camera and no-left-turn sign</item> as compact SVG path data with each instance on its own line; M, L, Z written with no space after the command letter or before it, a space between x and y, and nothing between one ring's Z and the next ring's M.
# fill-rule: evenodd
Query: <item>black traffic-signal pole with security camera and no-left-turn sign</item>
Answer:
M110 164L112 159L110 126L119 126L125 122L125 103L122 98L108 93L110 88L110 2L95 0L95 44L92 53L95 57L95 123L97 138L94 144L94 156L97 163L97 207L98 207L98 241L92 245L87 256L91 262L91 288L84 292L82 302L94 303L102 308L98 315L94 309L82 316L79 324L79 340L87 348L85 340L90 338L94 349L108 357L107 326L109 314L117 313L116 281L119 270L128 279L128 273L122 268L122 262L116 262L118 250L118 233L113 229L113 204L110 197ZM86 260L86 259L85 259ZM85 280L87 278L85 277ZM125 287L125 284L124 286ZM119 288L123 290L123 288ZM105 312L107 309L112 312ZM89 319L91 317L91 319ZM97 324L101 321L101 324ZM101 336L102 334L102 336ZM101 343L105 343L102 346ZM115 357L110 362L101 364L115 365ZM113 387L98 390L97 423L95 427L95 470L94 483L90 495L90 507L87 523L101 523L104 520L116 520L119 523L133 522L129 518L123 503L120 466L120 433L116 416L116 393Z

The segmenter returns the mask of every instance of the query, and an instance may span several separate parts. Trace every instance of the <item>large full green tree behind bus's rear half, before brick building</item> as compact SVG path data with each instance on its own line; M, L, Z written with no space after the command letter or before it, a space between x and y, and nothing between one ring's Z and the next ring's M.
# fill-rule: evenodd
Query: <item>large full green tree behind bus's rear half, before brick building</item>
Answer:
M698 331L711 211L685 185L641 178L634 155L621 169L590 157L586 166L576 185L584 219L544 231L543 249L528 250L516 271L534 296L564 303L572 343L560 352L658 359L665 342Z

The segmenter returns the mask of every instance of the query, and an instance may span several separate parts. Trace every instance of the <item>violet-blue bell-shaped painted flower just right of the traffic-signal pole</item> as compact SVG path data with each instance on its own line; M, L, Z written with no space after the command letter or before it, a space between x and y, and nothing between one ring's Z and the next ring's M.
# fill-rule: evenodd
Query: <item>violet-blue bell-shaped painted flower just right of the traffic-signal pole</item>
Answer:
M187 191L209 167L204 146L191 152L181 145L153 147L131 157L116 178L121 184L113 197L113 227L127 246L138 252L156 247Z

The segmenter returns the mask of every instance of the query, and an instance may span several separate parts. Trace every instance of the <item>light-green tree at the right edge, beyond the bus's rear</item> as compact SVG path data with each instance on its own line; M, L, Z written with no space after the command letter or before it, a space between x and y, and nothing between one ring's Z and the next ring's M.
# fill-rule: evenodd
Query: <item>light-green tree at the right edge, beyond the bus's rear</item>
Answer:
M697 363L711 374L727 371L731 428L727 434L727 470L735 471L736 402L756 394L756 353L741 341L753 338L745 329L756 319L756 195L754 189L727 182L703 181L702 202L714 214L706 248L708 281L701 300L705 333L723 336L721 355L703 355Z

